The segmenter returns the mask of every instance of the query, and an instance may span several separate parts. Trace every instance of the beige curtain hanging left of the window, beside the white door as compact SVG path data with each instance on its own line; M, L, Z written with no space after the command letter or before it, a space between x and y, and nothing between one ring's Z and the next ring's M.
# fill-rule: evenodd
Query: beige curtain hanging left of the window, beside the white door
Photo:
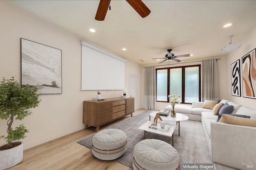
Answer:
M156 69L145 67L144 109L156 110Z

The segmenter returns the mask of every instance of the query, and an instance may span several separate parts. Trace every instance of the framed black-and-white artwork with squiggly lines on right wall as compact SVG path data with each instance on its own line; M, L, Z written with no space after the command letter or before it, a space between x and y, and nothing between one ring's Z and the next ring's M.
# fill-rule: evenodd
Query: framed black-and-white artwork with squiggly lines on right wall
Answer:
M240 59L231 64L232 96L241 96Z

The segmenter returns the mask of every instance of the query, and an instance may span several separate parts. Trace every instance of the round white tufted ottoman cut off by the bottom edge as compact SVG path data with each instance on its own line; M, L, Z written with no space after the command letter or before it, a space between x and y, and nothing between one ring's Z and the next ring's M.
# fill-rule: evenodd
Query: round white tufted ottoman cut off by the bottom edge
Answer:
M157 139L145 139L133 149L134 170L179 170L180 157L172 145Z

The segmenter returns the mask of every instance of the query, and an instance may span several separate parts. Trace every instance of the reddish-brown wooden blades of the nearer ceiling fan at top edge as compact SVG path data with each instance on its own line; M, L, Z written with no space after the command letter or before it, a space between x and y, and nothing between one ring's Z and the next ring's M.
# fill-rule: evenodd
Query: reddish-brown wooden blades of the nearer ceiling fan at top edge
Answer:
M142 18L145 18L150 14L148 7L142 2L142 0L126 0ZM108 12L110 0L100 0L98 10L95 16L95 20L103 21Z

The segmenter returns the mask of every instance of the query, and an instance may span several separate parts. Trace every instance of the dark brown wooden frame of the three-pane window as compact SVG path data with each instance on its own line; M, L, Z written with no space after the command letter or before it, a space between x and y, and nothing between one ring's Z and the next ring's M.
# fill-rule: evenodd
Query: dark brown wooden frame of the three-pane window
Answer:
M182 101L180 103L182 104L191 104L191 103L185 103L185 68L188 67L198 67L198 74L199 74L199 102L201 102L201 64L196 64L196 65L188 65L188 66L176 66L176 67L166 67L166 68L156 68L156 95L157 95L157 70L166 70L167 69L167 96L166 100L167 101L160 101L156 100L156 102L169 102L168 96L170 95L170 69L173 68L182 68L182 94L181 98Z

